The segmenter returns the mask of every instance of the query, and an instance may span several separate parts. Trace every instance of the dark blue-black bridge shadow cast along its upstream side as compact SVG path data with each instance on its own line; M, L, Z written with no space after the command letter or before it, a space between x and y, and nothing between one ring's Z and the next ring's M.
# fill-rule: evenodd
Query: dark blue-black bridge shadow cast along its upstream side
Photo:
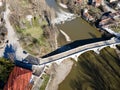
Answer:
M111 37L113 37L113 36L111 36ZM111 37L101 37L101 38L93 38L93 39L76 40L76 41L73 41L69 44L66 44L66 45L56 49L55 51L43 56L42 58L47 58L49 56L56 55L56 54L68 51L70 49L74 49L74 48L77 48L79 46L86 45L86 44L109 40Z

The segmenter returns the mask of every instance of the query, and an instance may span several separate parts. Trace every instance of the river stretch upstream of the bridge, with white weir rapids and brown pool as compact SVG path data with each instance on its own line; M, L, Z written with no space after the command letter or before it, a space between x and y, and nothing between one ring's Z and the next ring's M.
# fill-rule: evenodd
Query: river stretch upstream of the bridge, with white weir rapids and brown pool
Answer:
M60 46L75 40L101 37L101 33L96 28L88 24L88 22L81 17L73 19L74 14L60 8L55 0L46 0L46 3L50 8L54 9L57 15L52 22L57 24L58 29L61 32L58 37L58 43ZM73 20L70 20L71 18ZM64 22L64 24L61 24L61 22Z

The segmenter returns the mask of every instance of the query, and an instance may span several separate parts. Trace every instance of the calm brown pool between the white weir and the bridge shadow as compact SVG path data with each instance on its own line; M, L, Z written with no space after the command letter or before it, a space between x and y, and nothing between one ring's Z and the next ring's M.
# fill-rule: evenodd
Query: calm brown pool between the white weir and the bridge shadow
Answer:
M101 33L96 28L80 17L72 21L65 22L64 24L60 24L58 25L58 28L70 37L71 42L75 40L101 37ZM65 44L65 36L60 35L58 41L62 45Z

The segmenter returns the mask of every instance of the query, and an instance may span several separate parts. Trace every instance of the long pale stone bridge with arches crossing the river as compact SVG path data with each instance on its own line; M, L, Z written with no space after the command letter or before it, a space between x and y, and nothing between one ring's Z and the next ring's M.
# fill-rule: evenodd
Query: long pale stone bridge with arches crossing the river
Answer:
M93 50L96 53L99 53L99 51L104 47L110 46L112 48L115 48L116 45L118 45L118 44L120 44L120 40L118 40L117 38L111 38L110 40L106 40L106 41L100 41L100 42L86 44L86 45L79 46L77 48L53 55L53 56L49 56L47 58L42 58L42 59L40 59L39 65L50 64L52 62L59 63L67 58L73 58L74 60L77 61L79 55L81 55L84 52Z

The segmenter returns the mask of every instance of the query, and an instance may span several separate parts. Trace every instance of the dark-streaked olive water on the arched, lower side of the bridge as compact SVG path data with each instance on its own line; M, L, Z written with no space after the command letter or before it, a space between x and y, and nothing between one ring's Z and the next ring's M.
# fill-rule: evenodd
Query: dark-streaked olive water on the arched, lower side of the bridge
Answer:
M70 74L59 85L59 90L119 90L120 59L106 47L96 54L88 51L79 56Z

